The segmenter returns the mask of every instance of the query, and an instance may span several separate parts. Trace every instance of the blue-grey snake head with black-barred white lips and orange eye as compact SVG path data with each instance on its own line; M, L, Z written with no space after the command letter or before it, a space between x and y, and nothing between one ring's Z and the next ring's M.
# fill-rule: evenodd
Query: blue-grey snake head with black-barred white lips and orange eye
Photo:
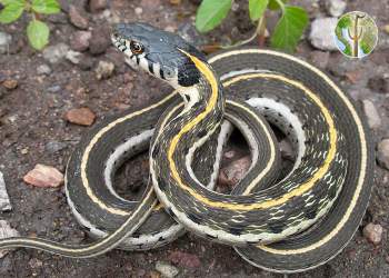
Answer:
M199 82L200 72L188 53L203 61L206 57L174 33L147 23L120 23L111 39L134 69L144 70L177 89Z

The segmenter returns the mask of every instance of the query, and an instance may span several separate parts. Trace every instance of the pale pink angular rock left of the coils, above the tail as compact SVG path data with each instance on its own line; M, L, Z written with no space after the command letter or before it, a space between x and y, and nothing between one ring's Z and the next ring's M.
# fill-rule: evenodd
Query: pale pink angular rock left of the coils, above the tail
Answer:
M37 165L23 180L36 187L59 187L63 183L63 175L51 166Z

